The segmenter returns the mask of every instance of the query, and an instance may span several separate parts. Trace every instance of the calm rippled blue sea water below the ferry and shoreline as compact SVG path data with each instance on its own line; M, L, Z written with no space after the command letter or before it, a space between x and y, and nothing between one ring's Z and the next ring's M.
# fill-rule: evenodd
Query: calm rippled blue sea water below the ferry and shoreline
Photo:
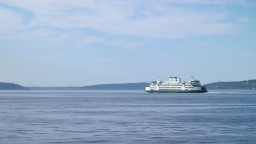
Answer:
M256 91L0 91L0 143L256 143Z

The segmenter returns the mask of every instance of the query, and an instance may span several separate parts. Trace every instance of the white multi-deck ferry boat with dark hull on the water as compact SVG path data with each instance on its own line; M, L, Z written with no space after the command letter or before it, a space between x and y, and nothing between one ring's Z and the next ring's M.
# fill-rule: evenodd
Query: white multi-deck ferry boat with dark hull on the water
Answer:
M200 81L191 80L188 82L181 81L179 77L170 77L168 81L161 82L158 80L152 81L149 86L146 86L145 92L148 93L206 93L205 86L201 86Z

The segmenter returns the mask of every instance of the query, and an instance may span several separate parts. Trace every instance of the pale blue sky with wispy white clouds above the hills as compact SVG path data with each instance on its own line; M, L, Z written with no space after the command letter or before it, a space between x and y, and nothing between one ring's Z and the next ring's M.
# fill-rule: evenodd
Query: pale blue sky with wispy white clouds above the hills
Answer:
M256 79L256 1L0 0L0 81Z

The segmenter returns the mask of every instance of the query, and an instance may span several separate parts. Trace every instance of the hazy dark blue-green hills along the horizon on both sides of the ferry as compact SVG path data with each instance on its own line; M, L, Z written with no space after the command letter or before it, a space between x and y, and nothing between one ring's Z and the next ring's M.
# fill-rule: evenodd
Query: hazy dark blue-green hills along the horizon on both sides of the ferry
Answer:
M16 83L0 82L0 90L8 89L36 89L36 90L139 90L145 89L148 82L101 84L84 87L24 87ZM256 89L256 80L213 82L205 85L207 89Z

